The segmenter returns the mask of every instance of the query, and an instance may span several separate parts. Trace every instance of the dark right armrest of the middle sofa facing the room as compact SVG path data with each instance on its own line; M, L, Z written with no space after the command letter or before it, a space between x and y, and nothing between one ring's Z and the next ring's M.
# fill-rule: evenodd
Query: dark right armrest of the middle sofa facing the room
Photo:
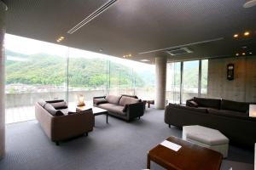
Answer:
M136 104L127 105L126 113L127 113L129 121L133 118L143 116L143 114L144 114L144 103L139 102L139 103L136 103Z

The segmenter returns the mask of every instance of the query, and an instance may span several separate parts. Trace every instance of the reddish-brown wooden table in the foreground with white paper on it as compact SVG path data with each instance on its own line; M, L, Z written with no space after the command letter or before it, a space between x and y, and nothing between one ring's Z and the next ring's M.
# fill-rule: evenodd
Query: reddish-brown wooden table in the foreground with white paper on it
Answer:
M158 144L152 150L148 150L148 165L154 161L166 169L178 170L217 170L223 156L217 151L189 143L183 139L169 137L166 139L182 147L175 151Z

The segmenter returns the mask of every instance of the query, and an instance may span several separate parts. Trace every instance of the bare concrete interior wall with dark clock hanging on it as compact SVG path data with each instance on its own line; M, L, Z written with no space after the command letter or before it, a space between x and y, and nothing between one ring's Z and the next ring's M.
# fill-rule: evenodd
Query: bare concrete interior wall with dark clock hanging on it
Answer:
M227 80L227 65L235 78ZM256 102L256 56L209 59L207 97Z

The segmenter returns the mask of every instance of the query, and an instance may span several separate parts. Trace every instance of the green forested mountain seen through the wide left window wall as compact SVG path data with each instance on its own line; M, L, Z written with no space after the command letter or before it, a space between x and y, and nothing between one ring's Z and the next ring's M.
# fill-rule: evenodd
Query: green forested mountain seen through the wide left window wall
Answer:
M51 54L19 54L6 50L6 83L61 86L66 82L67 59ZM125 65L107 59L68 59L68 83L72 87L143 87L146 83ZM108 75L110 72L110 76Z

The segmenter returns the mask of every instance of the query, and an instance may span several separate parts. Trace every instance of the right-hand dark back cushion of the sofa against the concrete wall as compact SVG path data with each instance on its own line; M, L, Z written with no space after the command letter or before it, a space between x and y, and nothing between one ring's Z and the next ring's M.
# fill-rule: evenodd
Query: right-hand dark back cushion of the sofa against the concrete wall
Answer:
M250 103L237 102L228 99L221 100L221 109L230 111L240 111L246 113L249 110Z

